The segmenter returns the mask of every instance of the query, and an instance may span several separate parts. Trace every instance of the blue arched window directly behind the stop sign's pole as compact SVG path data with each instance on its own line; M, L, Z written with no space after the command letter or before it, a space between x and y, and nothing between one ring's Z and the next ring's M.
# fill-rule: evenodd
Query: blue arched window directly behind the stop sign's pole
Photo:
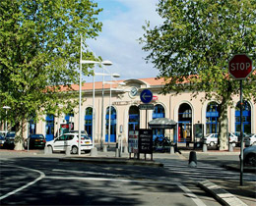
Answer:
M240 131L240 101L235 107L235 131ZM242 104L242 128L244 133L251 133L251 106L247 101L243 101Z

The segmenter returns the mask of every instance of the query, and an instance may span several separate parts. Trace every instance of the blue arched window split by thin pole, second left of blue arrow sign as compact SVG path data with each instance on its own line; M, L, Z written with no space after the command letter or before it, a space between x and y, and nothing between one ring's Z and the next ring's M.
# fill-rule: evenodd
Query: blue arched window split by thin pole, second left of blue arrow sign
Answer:
M108 127L109 127L109 107L106 109L105 115L105 142L108 142ZM116 142L116 110L111 106L110 113L110 142Z

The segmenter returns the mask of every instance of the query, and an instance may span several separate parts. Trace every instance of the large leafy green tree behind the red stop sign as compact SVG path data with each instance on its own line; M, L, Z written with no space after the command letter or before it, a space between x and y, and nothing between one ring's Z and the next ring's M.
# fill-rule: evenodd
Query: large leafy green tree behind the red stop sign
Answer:
M239 53L256 63L255 0L160 0L162 25L143 26L143 50L164 77L162 93L200 91L220 102L220 150L227 148L227 107L239 93L228 60ZM256 74L243 81L244 98L256 101Z

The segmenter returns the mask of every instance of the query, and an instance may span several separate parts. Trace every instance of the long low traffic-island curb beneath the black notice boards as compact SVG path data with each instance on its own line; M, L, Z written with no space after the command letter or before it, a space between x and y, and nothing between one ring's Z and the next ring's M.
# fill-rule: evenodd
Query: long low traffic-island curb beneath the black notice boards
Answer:
M145 160L131 160L125 158L104 158L104 157L64 157L59 159L60 162L83 162L89 164L121 164L121 165L140 165L163 167L162 163Z

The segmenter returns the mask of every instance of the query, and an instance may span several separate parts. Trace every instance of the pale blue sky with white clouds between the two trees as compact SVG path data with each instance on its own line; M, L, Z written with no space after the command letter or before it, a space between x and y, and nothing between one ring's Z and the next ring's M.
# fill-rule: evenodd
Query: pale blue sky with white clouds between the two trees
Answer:
M113 63L106 69L118 73L119 79L157 77L159 72L153 64L146 63L147 53L142 50L143 45L138 39L143 36L142 26L146 21L150 21L151 26L161 24L156 12L159 0L94 1L98 8L103 8L97 17L103 26L96 40L87 39L86 43L96 56ZM98 68L96 71L102 72ZM93 77L85 77L85 80L92 82ZM96 77L96 81L101 80L102 77Z

